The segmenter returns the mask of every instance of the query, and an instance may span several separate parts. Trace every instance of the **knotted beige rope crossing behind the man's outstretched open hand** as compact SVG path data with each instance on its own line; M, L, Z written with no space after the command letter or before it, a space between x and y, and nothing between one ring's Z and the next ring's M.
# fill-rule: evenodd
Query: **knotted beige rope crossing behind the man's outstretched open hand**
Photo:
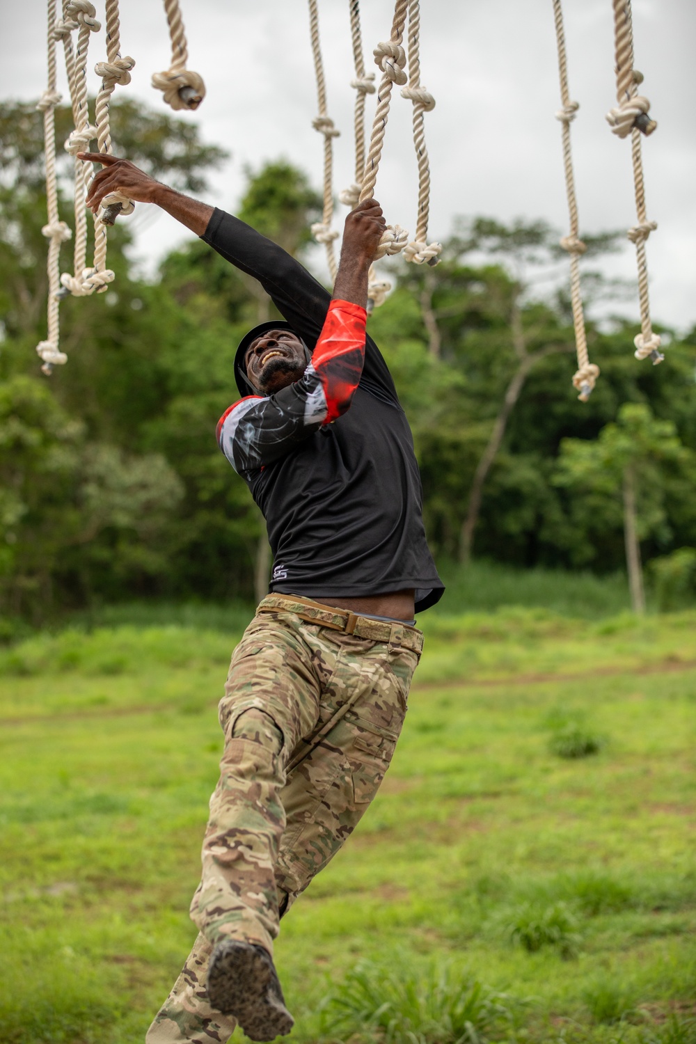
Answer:
M97 76L101 76L101 89L95 102L95 122L97 126L97 150L112 152L112 136L109 121L109 104L117 84L125 87L130 82L130 70L135 66L131 57L120 55L120 24L118 0L106 0L106 61L98 62L94 67ZM131 214L135 204L121 192L111 192L102 200L102 210L94 216L94 264L85 274L83 284L97 293L101 293L114 281L114 272L106 267L106 224L113 224L114 218L106 209L114 208L120 214Z

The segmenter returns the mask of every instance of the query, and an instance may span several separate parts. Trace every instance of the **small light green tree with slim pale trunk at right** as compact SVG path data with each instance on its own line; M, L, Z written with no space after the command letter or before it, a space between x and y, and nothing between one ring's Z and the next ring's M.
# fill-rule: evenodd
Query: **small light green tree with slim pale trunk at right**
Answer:
M556 483L580 497L590 495L586 509L599 509L605 525L613 524L620 505L634 613L645 612L641 541L668 525L670 470L693 472L695 466L696 454L682 446L675 425L655 420L649 407L639 403L622 406L616 423L602 428L596 441L561 443Z

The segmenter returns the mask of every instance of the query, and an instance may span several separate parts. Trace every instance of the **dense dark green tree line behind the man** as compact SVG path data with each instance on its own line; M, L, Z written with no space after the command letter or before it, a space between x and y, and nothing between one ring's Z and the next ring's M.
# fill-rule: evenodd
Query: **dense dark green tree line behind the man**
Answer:
M62 123L67 134L58 111L58 141ZM114 106L112 123L121 155L205 198L225 153L195 126L133 101ZM40 622L95 599L251 597L268 575L263 520L214 429L236 398L236 346L273 316L269 300L199 240L143 280L119 221L117 280L61 304L69 362L46 378L32 104L3 106L0 158L0 612ZM67 217L65 193L61 207ZM237 213L302 258L319 210L307 176L277 161L247 172ZM596 257L618 242L587 241ZM627 562L640 609L642 561L665 575L696 571L696 330L653 367L633 358L632 327L591 319L602 374L579 403L561 264L543 221L462 218L437 267L397 270L369 330L413 428L438 561L600 572ZM591 315L593 301L617 293L598 274L584 282Z

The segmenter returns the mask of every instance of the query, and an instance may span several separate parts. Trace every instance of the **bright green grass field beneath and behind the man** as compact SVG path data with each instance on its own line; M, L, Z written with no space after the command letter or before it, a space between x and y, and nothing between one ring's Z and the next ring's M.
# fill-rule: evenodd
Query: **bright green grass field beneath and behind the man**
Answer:
M0 652L1 1044L140 1042L188 952L241 626L201 613ZM695 1044L696 612L581 615L419 621L392 767L283 923L293 1039Z

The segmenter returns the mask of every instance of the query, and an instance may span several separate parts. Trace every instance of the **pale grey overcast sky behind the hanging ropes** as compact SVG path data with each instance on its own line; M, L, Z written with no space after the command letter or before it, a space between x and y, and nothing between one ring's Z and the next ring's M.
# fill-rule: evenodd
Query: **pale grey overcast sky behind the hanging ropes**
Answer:
M45 3L1 3L0 96L37 97L46 78ZM103 0L96 7L103 19ZM633 0L632 9L635 67L658 121L643 148L648 218L658 222L647 247L652 314L685 330L696 322L696 4ZM311 126L317 104L305 0L182 0L182 10L189 67L201 73L208 90L198 111L183 118L232 153L213 174L208 201L234 210L244 167L279 157L303 167L320 187L322 139ZM369 65L375 44L389 37L392 11L389 0L363 0ZM335 139L337 193L353 180L347 0L319 0L319 19L329 115L341 130ZM572 125L580 231L628 228L635 221L629 141L613 135L604 119L616 92L611 0L566 0L565 21L571 97L580 102ZM152 72L169 65L159 0L121 0L121 42L137 65L131 85L117 88L118 94L133 92L163 106L149 86ZM91 44L93 92L98 82L91 70L103 47L102 30ZM566 232L551 0L423 0L422 80L436 99L426 114L429 238L445 238L456 215L475 213L502 220L544 217ZM63 87L67 95L65 80ZM394 92L376 195L387 220L413 231L417 180L410 119L411 103ZM133 220L137 255L151 271L183 231L153 208L140 207ZM607 270L634 278L633 248ZM638 319L637 299L617 310Z

